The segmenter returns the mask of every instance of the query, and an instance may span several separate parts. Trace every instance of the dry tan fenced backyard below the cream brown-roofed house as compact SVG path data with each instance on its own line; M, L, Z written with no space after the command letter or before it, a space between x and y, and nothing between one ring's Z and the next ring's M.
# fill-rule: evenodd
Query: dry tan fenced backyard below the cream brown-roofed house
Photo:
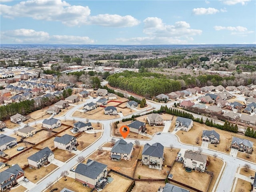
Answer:
M173 180L189 184L191 187L201 191L207 190L211 178L211 176L205 172L186 172L185 168L183 168L183 164L178 162L174 162L171 173L173 174ZM200 181L200 185L198 184L198 181Z

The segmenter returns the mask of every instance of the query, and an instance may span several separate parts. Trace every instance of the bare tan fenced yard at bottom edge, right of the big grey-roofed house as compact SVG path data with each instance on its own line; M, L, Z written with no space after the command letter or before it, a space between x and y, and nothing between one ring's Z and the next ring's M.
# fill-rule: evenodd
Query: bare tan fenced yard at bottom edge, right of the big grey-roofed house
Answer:
M102 192L126 191L128 186L130 186L130 184L132 183L132 180L119 174L116 174L114 172L110 172L109 175L114 180L111 183L107 184L107 186L102 190Z

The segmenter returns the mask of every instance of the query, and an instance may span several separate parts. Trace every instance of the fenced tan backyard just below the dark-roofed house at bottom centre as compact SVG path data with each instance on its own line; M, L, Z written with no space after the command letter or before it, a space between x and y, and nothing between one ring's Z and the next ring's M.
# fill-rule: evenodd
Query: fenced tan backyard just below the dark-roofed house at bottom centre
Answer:
M162 170L148 168L148 165L144 165L140 162L137 163L134 178L138 178L140 175L141 179L165 179L168 175L170 168L162 167Z

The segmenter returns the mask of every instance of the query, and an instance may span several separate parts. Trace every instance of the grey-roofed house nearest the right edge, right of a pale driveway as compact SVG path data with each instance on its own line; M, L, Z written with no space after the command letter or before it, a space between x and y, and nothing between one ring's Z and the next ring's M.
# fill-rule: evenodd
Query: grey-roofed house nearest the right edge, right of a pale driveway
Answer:
M252 153L252 147L253 147L253 142L251 142L247 139L241 139L241 138L238 138L238 137L233 137L233 140L232 140L232 143L231 143L231 148L232 149L237 149L239 151Z

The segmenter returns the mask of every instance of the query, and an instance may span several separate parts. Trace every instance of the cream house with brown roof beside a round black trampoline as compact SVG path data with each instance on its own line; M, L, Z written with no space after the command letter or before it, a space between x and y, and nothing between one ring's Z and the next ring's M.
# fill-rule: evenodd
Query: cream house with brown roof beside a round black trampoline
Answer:
M184 167L189 167L204 172L207 162L207 155L199 151L186 150L184 154Z

